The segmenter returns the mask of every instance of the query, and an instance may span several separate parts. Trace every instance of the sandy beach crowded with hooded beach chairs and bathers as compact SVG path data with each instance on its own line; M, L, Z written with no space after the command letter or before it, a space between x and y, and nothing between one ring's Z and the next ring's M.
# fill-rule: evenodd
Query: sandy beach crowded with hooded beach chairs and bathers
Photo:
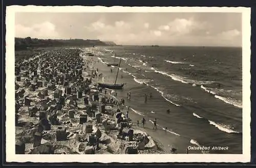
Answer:
M56 76L62 74L61 65L64 65L63 69L68 68L66 63L72 61L65 54L72 55L73 60L79 57L84 61L74 65L81 66L76 76L79 74L84 80L91 80L86 83L86 92L81 90L81 85L75 85L74 78L62 83L56 80ZM50 67L40 65L45 57L53 59L57 55L62 55L61 63L58 60L50 63ZM17 154L164 153L155 138L135 125L132 113L129 118L125 117L127 105L102 102L103 99L110 101L113 95L109 90L106 90L107 94L104 94L104 89L99 91L97 82L100 79L95 76L101 67L95 59L81 53L80 49L61 48L42 53L29 64L17 64L21 69L17 71L15 81ZM26 72L31 74L32 67L38 69L31 77ZM40 74L42 67L54 72L55 77ZM98 73L92 71L96 67ZM87 102L84 102L84 97L87 97ZM117 122L117 114L121 115L122 123Z

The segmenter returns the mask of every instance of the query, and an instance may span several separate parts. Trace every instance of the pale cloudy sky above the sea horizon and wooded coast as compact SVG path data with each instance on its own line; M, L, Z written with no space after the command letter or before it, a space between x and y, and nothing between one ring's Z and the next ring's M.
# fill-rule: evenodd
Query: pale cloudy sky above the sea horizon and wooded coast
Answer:
M16 13L15 37L242 46L241 13Z

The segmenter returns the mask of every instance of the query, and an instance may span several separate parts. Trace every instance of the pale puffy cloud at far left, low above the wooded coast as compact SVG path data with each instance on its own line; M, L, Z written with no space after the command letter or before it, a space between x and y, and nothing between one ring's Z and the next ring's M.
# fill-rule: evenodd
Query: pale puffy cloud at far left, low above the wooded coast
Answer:
M32 26L24 26L22 24L15 25L15 37L32 37L41 39L58 38L55 25L51 22L42 22Z

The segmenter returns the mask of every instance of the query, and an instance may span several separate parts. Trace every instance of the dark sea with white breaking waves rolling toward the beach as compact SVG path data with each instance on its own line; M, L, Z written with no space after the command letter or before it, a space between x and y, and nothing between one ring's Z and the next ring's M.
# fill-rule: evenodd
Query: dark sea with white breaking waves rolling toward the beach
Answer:
M206 153L242 153L240 48L96 47L94 53L94 67L103 73L97 79L100 82L114 83L117 67L104 63L122 59L117 82L125 85L116 91L117 98L131 106L129 115L135 126L145 117L144 129L166 152L170 145L177 153L185 153L188 146L229 147ZM152 129L155 118L157 130Z

